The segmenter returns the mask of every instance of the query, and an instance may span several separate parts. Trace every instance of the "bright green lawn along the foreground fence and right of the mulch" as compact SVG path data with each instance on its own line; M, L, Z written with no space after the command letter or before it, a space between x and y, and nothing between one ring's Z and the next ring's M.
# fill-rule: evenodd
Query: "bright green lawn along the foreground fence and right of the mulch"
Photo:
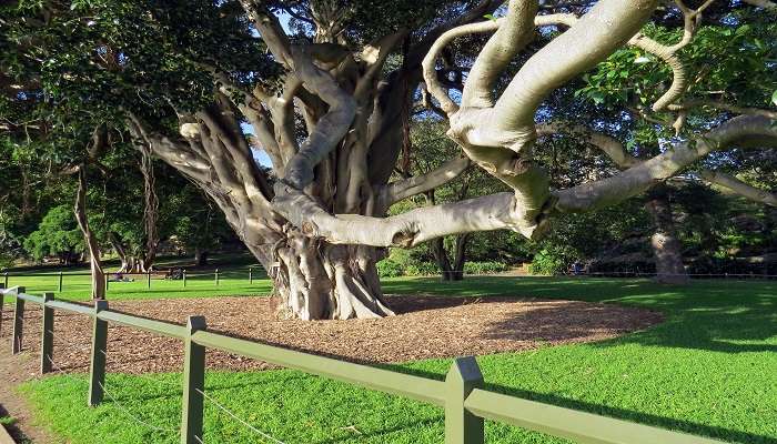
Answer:
M738 443L777 443L777 284L646 280L478 278L462 283L393 279L389 293L517 295L606 302L657 310L666 322L599 343L482 356L491 390L623 420ZM494 325L498 329L498 325ZM430 334L434 334L430 332ZM389 340L389 339L387 339ZM450 360L395 366L442 379ZM115 400L85 406L83 376L24 385L42 424L72 443L175 443L180 374L112 374ZM443 412L396 396L295 371L209 372L206 392L284 443L440 443ZM157 427L127 416L124 410ZM261 443L206 402L205 442ZM558 443L486 423L490 443Z

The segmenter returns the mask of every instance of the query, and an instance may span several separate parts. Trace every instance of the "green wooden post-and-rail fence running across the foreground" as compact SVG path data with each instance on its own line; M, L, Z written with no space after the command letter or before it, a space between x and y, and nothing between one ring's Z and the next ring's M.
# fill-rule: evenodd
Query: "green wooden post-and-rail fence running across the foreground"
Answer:
M203 407L204 400L208 397L204 392L206 349L234 353L441 406L445 410L446 444L483 443L484 418L591 444L720 443L709 438L490 392L483 389L483 375L474 357L455 360L445 381L437 381L209 332L205 319L202 316L190 316L186 325L178 325L111 312L108 310L105 301L95 301L93 306L87 306L54 301L52 293L44 293L42 296L26 294L23 287L4 291L0 287L0 319L3 294L16 295L12 334L12 353L14 354L22 350L24 304L30 302L43 307L40 357L42 373L51 372L53 363L53 311L69 311L91 316L94 320L89 374L90 386L87 400L88 404L92 406L100 404L105 394L109 323L128 325L162 336L182 340L184 363L180 433L183 444L203 443Z

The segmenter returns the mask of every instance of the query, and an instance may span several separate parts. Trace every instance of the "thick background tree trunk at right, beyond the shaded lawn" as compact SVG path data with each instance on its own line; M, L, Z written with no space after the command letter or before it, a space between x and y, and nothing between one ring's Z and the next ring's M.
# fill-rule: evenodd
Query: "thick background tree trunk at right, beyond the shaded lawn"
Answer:
M650 238L656 258L656 279L664 283L687 282L688 274L683 264L683 249L675 233L669 189L659 185L652 190L646 208L656 230Z

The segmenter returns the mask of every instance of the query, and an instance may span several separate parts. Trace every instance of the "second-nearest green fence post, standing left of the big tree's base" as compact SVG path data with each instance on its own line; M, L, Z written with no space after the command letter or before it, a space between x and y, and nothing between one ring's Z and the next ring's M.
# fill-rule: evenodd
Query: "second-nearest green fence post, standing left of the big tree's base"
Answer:
M189 316L183 355L183 404L181 444L202 443L203 391L205 390L205 347L192 341L192 334L205 330L204 316Z

